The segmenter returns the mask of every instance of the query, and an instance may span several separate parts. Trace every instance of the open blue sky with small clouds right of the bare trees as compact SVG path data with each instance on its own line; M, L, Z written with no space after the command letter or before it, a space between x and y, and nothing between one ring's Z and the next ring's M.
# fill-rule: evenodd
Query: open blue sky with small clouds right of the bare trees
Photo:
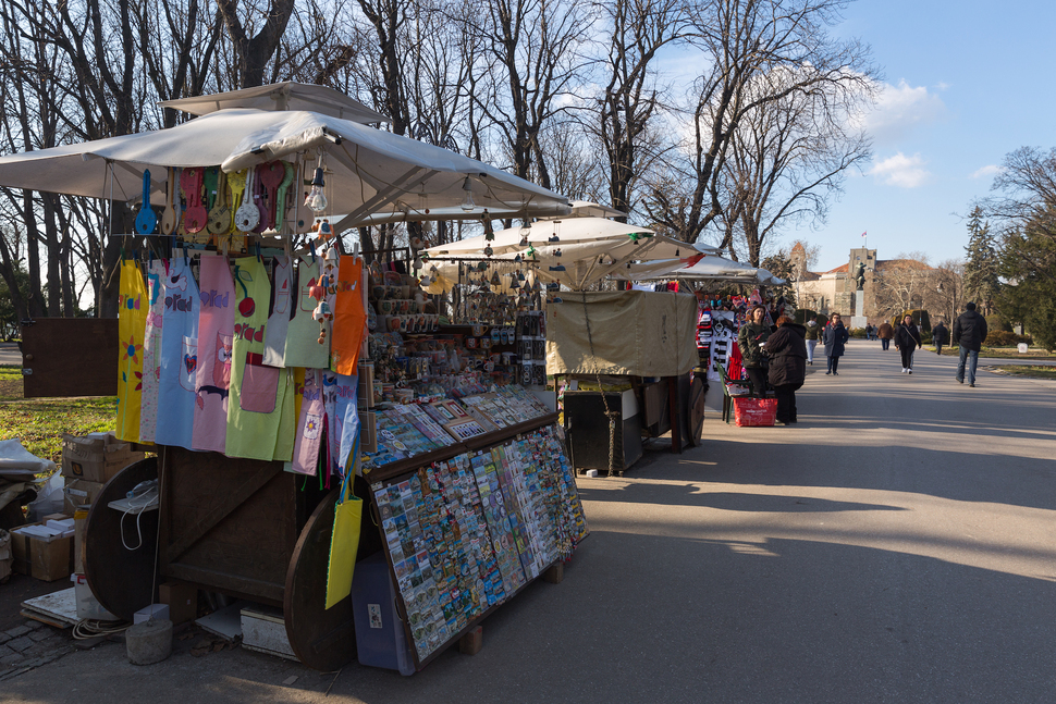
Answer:
M962 258L965 215L990 193L1005 155L1056 146L1053 45L1045 2L859 0L835 33L872 46L885 90L867 118L873 161L852 175L816 231L816 270L847 262L868 232L880 259L922 251L932 264Z

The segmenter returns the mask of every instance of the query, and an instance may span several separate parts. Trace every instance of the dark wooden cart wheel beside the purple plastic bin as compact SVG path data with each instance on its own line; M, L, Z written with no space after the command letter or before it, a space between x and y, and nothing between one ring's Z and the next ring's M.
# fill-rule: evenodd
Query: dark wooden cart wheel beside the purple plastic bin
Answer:
M347 665L356 656L352 596L326 608L337 492L335 489L322 499L300 531L286 571L283 598L290 646L302 663L324 672Z

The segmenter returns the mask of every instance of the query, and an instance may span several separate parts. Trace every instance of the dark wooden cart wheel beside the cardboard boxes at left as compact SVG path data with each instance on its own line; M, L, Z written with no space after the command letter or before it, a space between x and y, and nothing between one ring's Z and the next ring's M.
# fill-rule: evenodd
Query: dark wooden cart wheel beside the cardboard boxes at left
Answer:
M158 510L125 516L109 504L125 498L136 484L151 479L158 479L156 457L122 469L96 495L85 526L84 572L88 586L103 608L126 621L155 602ZM127 549L126 545L135 549Z

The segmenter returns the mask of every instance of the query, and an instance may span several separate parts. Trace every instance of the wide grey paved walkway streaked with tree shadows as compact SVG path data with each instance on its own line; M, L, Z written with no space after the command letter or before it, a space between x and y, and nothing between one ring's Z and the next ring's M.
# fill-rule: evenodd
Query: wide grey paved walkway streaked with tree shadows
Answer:
M1056 692L1056 382L855 341L788 428L717 415L683 455L579 481L591 536L410 678L321 675L193 639L109 644L3 682L19 701L1047 702ZM320 576L320 579L322 576ZM2 589L2 588L0 588ZM295 679L292 679L295 678ZM71 694L76 687L77 693ZM329 697L324 694L329 689ZM204 694L208 692L208 695Z

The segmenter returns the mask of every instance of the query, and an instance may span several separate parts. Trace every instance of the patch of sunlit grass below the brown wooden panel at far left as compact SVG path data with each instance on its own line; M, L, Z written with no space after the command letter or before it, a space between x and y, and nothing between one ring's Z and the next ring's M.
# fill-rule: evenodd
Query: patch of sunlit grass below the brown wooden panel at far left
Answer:
M0 439L19 437L37 457L62 464L62 434L114 430L118 398L23 398L22 368L0 367Z

